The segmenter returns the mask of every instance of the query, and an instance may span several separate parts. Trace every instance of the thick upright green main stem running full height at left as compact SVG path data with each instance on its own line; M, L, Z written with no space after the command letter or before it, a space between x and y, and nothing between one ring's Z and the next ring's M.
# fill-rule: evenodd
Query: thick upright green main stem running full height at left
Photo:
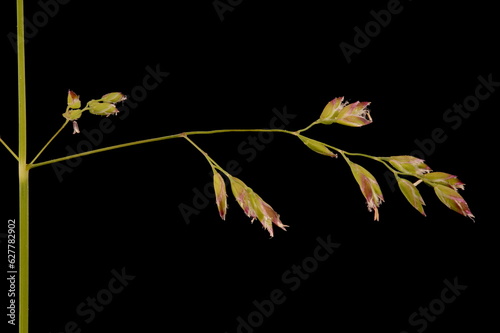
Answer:
M26 164L26 75L24 62L24 6L17 0L17 75L19 93L19 333L28 333L29 221Z

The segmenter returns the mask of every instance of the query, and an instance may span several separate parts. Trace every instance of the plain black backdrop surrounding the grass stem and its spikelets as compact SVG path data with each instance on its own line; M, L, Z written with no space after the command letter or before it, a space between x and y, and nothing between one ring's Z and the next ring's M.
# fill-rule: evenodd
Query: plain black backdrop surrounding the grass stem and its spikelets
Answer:
M455 278L467 289L421 332L495 327L499 92L456 129L443 119L474 95L479 76L500 81L494 7L402 1L348 63L339 44L354 45L354 28L363 30L374 20L370 12L387 5L241 1L221 21L212 1L72 0L51 7L53 17L43 21L40 3L26 1L27 20L41 20L26 45L31 158L63 123L68 89L84 103L111 91L130 98L149 66L168 77L127 116L110 117L114 130L94 148L191 130L266 128L273 109L284 108L295 116L287 129L296 130L345 96L371 101L374 123L318 126L310 136L388 156L415 153L416 141L429 142L441 128L446 140L429 143L425 159L467 184L462 194L476 216L472 223L422 188L422 217L391 191L383 166L356 159L384 192L374 222L342 159L317 155L286 135L275 135L251 161L238 150L248 133L193 137L221 165L236 160L238 177L290 225L275 229L273 239L231 196L226 221L212 200L186 223L179 205L193 206L193 189L210 182L210 168L178 139L85 157L62 181L52 166L40 167L30 173L31 331L63 332L74 321L81 332L237 332L237 318L279 289L286 301L255 332L417 332L423 327L411 326L409 316ZM17 151L13 1L3 4L2 22L0 134ZM79 124L90 131L100 121L84 114ZM82 140L68 126L39 161L65 156ZM0 161L6 232L6 221L18 216L17 171L6 151ZM282 276L313 255L318 237L341 245L291 291ZM76 308L122 268L135 278L86 323Z

